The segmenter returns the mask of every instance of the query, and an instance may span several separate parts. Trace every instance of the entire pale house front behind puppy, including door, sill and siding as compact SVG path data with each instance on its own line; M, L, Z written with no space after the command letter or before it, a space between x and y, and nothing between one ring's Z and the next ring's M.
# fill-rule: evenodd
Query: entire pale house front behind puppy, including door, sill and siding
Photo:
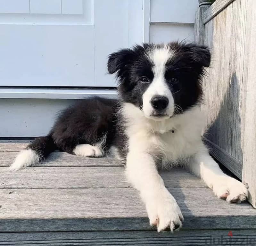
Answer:
M193 40L197 8L197 0L0 0L0 138L46 135L70 99L116 96L108 54Z

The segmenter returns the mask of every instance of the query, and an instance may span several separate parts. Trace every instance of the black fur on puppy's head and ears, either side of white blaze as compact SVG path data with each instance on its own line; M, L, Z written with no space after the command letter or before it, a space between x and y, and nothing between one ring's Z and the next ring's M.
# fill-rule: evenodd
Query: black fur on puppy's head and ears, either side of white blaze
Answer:
M175 52L166 64L165 79L174 95L175 104L182 111L193 106L202 96L200 77L203 67L209 67L211 53L206 46L173 42L169 49ZM109 73L116 73L119 81L119 93L123 101L131 102L142 108L142 95L149 84L139 83L141 76L146 76L150 82L153 80L153 63L148 53L163 44L137 45L133 49L122 49L109 55ZM177 84L169 82L171 78L178 78Z

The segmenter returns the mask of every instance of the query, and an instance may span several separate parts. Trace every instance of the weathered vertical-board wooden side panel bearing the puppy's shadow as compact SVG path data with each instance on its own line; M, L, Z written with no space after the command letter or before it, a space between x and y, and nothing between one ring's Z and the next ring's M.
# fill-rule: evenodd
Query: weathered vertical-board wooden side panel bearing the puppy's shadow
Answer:
M240 179L247 83L244 70L248 63L248 56L241 47L246 47L247 5L245 1L233 1L205 24L205 44L212 47L211 68L207 69L209 77L203 81L206 104L202 109L207 111L209 124L205 136L219 147L218 153L212 154Z

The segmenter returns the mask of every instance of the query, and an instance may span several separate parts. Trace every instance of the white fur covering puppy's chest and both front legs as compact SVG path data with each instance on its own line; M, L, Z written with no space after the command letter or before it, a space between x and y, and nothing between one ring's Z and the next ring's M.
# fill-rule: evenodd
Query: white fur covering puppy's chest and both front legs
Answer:
M181 227L183 216L158 174L155 159L160 159L163 166L182 164L202 177L219 198L238 202L246 198L245 186L225 175L202 143L206 122L200 108L194 107L162 121L148 119L130 103L124 104L121 113L126 119L129 138L126 175L139 190L150 224L157 225L158 231L167 227L173 231L174 224Z

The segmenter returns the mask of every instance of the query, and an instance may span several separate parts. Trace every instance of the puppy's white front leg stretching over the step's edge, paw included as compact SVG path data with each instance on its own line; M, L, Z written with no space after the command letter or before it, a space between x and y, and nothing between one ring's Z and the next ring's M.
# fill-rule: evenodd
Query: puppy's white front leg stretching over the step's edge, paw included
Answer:
M172 232L181 228L183 216L180 208L164 186L150 154L130 149L126 175L145 202L150 225L156 225L158 232L166 228L170 228Z

